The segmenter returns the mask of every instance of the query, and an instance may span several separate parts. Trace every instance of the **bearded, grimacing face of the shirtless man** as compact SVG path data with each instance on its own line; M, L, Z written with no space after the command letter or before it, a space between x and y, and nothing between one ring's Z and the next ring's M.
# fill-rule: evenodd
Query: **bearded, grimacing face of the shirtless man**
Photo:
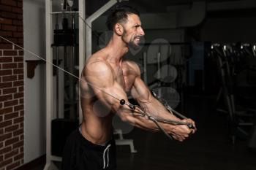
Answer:
M140 39L145 35L138 15L128 15L127 23L122 24L122 26L124 28L124 33L121 36L123 42L125 42L128 47L138 49Z

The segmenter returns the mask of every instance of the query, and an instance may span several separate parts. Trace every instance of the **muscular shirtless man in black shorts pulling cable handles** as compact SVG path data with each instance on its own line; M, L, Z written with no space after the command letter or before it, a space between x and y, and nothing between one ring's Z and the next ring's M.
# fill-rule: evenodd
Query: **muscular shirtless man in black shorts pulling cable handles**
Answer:
M116 169L116 151L113 139L112 118L117 114L121 120L149 131L159 128L148 117L141 117L117 98L129 104L130 93L140 107L156 117L180 120L151 95L140 78L135 62L123 57L130 47L138 47L144 36L139 13L132 7L117 7L109 16L107 26L113 31L108 45L86 62L80 82L83 123L79 131L69 136L64 149L64 169ZM193 120L180 120L192 123ZM187 125L160 123L165 131L178 141L183 141L195 129Z

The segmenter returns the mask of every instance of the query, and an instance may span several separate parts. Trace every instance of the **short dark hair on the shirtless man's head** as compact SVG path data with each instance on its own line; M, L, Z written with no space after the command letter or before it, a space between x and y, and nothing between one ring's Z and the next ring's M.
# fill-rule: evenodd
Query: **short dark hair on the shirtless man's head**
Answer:
M108 15L106 25L109 30L113 30L113 26L116 23L126 23L129 14L135 14L140 16L140 12L134 7L129 7L127 5L116 6L110 15Z

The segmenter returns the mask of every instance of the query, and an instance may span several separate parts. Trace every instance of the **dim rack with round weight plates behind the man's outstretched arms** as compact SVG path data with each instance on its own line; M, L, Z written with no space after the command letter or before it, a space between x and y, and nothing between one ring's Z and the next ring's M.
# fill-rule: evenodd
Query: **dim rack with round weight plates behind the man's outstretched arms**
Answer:
M143 80L151 90L175 109L184 112L184 86L186 84L187 43L171 43L166 39L155 39L143 44ZM151 75L151 77L149 77Z

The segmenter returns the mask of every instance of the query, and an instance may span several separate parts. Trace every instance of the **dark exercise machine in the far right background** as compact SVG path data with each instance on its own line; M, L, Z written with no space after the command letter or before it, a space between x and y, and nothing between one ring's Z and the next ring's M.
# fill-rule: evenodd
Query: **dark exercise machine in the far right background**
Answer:
M219 72L220 88L217 95L217 103L219 103L217 111L228 115L227 120L233 144L236 142L236 137L249 138L256 112L253 106L242 106L241 102L238 102L241 96L236 93L239 88L237 83L239 74L244 69L252 67L246 64L246 58L255 59L253 51L250 50L252 55L249 56L246 51L248 49L245 50L242 44L212 44L209 55L215 59ZM222 101L225 102L224 106L221 106Z

